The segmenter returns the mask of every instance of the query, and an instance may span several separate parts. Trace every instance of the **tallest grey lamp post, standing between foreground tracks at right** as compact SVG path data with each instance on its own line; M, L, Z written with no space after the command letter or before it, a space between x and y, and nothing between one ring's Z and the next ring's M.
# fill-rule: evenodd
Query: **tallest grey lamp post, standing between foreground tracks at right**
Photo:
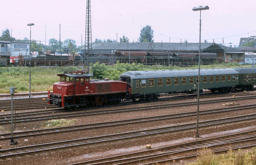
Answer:
M198 88L197 88L197 113L196 113L196 138L199 138L199 93L200 93L200 52L201 52L201 10L209 10L208 6L194 7L193 11L200 11L200 30L199 30L199 55L198 55Z

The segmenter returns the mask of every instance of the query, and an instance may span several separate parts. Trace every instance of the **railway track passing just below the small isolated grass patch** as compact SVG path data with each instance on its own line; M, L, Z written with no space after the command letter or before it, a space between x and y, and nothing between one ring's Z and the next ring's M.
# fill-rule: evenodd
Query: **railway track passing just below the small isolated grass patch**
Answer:
M200 111L200 115L209 115L209 114L221 113L221 112L232 112L232 111L239 111L239 110L252 109L252 108L256 108L256 104L239 106L239 107L204 110L204 111ZM136 118L136 119L126 119L126 120L111 121L111 122L102 122L102 123L65 126L65 127L48 128L48 129L40 129L40 130L13 132L13 137L14 138L24 138L24 137L31 137L31 136L47 135L47 134L64 133L64 132L70 132L70 131L84 131L84 130L89 130L89 129L98 129L98 128L104 128L104 127L119 126L119 125L146 123L146 122L153 122L153 121L158 121L158 120L183 118L183 117L190 117L190 116L196 116L196 111L195 112L187 112L187 113L179 113L179 114L171 114L171 115L143 117L143 118ZM11 138L11 133L0 134L0 140L10 139L10 138Z

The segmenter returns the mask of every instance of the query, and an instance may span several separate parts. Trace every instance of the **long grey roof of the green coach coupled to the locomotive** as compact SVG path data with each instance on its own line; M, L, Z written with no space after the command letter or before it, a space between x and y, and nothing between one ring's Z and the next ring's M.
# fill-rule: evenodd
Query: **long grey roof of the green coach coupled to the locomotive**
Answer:
M200 69L200 76L221 75L221 74L239 74L239 72L231 68ZM198 76L198 69L163 70L163 71L127 71L123 73L120 77L130 77L131 79L148 79L148 78L186 77L186 76Z

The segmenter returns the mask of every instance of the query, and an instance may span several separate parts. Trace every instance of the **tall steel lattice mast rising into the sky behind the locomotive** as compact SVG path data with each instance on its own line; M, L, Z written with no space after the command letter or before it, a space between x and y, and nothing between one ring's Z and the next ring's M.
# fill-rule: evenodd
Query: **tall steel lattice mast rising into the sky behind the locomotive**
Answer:
M87 67L89 69L89 56L92 49L92 23L91 23L91 0L86 0L86 21L85 21L85 43L87 49Z

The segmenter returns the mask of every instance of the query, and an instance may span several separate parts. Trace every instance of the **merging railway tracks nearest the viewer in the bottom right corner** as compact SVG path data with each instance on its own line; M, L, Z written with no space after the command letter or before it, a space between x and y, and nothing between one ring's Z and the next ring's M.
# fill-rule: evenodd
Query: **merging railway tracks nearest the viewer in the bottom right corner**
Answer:
M210 139L198 140L185 144L166 146L130 154L122 154L91 161L73 163L84 164L157 164L195 158L201 148L208 147L213 153L229 151L230 149L243 149L256 146L256 130L220 136Z

